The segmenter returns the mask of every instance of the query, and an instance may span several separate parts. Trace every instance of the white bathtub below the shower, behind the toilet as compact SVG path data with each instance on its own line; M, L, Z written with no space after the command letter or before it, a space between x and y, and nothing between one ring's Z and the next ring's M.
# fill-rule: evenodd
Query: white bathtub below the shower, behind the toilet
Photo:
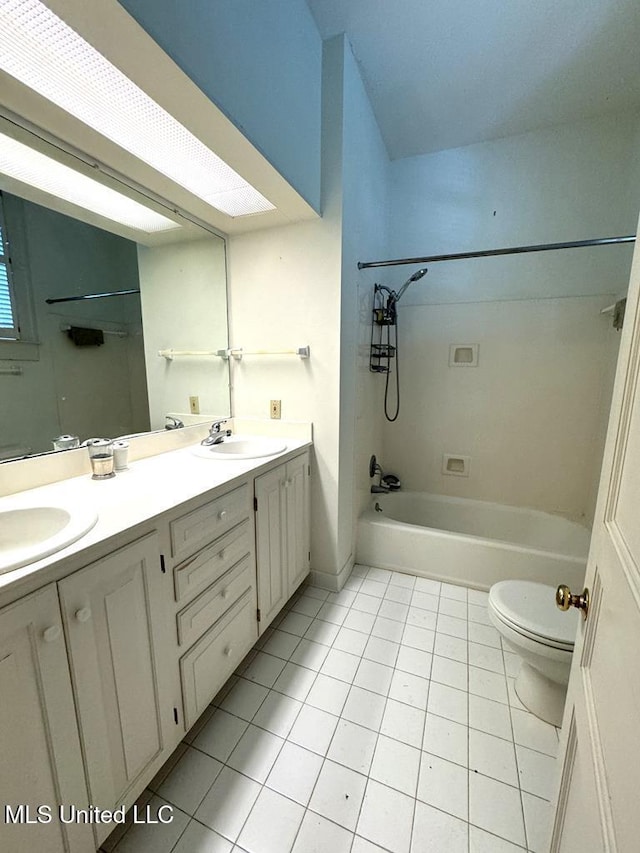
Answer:
M512 578L581 589L590 537L545 512L395 492L372 495L358 521L356 560L477 589Z

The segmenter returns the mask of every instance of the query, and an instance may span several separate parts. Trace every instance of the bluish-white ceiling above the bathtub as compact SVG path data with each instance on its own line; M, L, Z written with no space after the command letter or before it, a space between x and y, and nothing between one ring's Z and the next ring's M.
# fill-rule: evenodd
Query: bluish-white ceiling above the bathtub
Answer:
M307 0L392 159L640 108L640 0Z

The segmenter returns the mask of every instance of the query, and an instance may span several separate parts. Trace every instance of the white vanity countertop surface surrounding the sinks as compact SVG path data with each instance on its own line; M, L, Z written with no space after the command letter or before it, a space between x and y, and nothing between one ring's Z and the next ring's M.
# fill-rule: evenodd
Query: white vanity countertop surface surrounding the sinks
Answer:
M0 498L0 511L25 506L89 506L98 513L95 526L84 536L34 563L0 574L0 606L66 574L64 561L75 571L82 552L104 543L162 513L234 481L253 477L310 447L306 439L287 438L286 449L258 459L202 459L194 444L131 462L110 480L92 480L90 474L72 477ZM89 555L87 555L89 556ZM76 559L72 559L76 558Z

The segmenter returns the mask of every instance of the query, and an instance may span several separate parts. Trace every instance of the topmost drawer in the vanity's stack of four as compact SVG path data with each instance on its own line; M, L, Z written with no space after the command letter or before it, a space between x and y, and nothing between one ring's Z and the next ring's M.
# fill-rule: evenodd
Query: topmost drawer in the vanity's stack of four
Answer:
M245 484L177 518L169 525L171 555L184 558L195 554L205 543L245 519L249 511L249 486Z

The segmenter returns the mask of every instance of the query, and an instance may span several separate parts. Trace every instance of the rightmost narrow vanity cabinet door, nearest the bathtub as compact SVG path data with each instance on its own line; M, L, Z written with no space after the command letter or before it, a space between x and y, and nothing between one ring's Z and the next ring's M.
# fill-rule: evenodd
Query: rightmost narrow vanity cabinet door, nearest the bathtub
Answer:
M309 574L309 456L287 463L287 568L289 596Z

